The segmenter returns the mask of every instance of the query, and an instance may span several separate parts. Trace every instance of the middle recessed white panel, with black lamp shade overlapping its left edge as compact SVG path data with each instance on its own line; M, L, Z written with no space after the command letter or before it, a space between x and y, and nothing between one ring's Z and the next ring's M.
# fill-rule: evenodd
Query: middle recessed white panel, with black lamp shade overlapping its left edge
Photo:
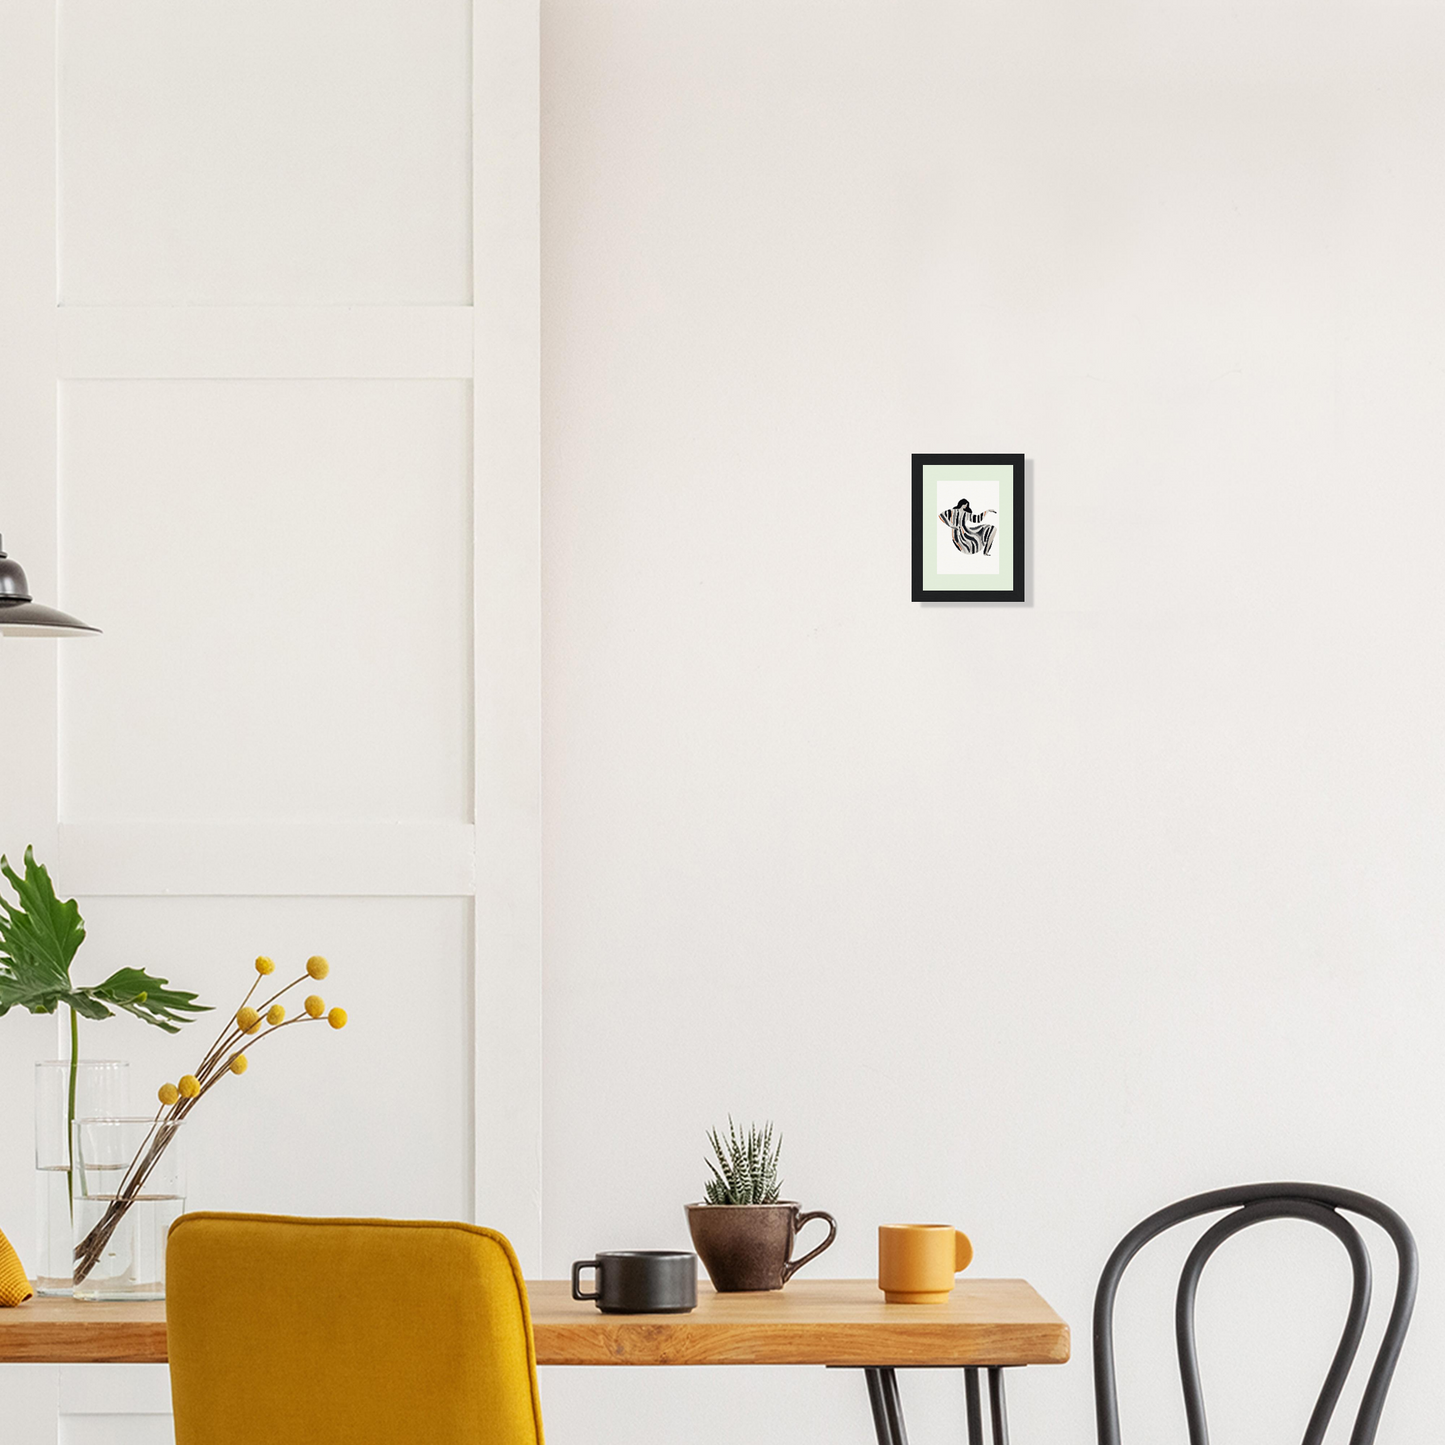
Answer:
M468 821L470 405L448 381L75 381L62 816Z

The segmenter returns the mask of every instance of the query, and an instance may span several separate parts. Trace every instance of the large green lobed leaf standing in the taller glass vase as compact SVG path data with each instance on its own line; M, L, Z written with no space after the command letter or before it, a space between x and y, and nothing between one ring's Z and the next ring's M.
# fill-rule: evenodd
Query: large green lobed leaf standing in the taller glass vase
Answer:
M62 1004L82 1019L113 1019L116 1009L176 1033L188 1013L207 1012L195 994L168 988L143 968L121 968L104 983L77 988L71 961L85 942L85 920L75 899L64 902L35 850L25 850L25 874L0 855L0 874L14 889L16 903L0 896L0 1016L12 1009L55 1013Z

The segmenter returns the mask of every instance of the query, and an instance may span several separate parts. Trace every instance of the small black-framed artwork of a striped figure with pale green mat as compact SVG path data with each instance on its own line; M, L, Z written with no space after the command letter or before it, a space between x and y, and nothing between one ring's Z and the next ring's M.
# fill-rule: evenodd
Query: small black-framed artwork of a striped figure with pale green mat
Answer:
M913 601L1023 600L1023 454L913 452Z

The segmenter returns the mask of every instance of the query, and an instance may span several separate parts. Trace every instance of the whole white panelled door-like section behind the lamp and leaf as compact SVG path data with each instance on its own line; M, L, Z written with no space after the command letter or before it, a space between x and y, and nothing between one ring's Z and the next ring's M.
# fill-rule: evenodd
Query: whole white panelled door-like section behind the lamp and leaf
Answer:
M207 1101L192 1207L475 1217L535 1263L536 0L0 29L0 535L104 633L0 642L0 848L78 896L82 980L224 1012L256 954L332 959L351 1025ZM142 1104L212 1032L84 1052ZM0 1033L23 1253L55 1029ZM7 1368L7 1445L168 1438L163 1374Z

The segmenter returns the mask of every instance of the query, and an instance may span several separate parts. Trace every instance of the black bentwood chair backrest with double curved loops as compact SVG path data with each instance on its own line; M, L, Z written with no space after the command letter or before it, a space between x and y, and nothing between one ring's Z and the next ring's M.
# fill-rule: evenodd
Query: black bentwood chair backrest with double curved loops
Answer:
M1261 1220L1306 1220L1329 1230L1345 1247L1354 1274L1350 1309L1345 1315L1344 1332L1325 1376L1324 1387L1305 1428L1303 1445L1321 1445L1331 1416L1344 1389L1350 1366L1354 1363L1364 1334L1366 1316L1370 1314L1370 1253L1360 1238L1358 1230L1337 1211L1348 1209L1361 1218L1373 1220L1394 1244L1397 1272L1394 1305L1384 1327L1379 1354L1366 1381L1360 1410L1355 1415L1350 1445L1371 1445L1380 1423L1380 1410L1390 1389L1405 1331L1415 1309L1415 1286L1419 1261L1415 1253L1415 1238L1394 1209L1350 1189L1335 1189L1321 1183L1250 1183L1234 1189L1214 1189L1181 1199L1157 1214L1149 1215L1120 1240L1108 1257L1100 1276L1098 1293L1094 1296L1094 1407L1098 1418L1100 1445L1120 1445L1118 1441L1118 1392L1114 1381L1114 1296L1129 1261L1152 1240L1175 1224L1194 1220L1201 1214L1215 1214L1233 1209L1233 1214L1217 1220L1191 1250L1179 1276L1179 1292L1175 1296L1175 1342L1179 1351L1179 1376L1183 1383L1185 1415L1189 1422L1189 1445L1208 1445L1209 1431L1204 1418L1204 1392L1199 1384L1199 1361L1194 1342L1194 1300L1199 1287L1199 1274L1209 1256L1231 1234Z

